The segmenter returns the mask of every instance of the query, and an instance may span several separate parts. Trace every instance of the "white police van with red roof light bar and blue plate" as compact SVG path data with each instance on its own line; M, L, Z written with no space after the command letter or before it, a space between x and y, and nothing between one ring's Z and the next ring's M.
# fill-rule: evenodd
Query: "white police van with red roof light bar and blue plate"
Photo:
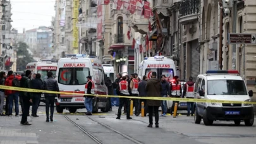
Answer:
M250 102L253 92L248 92L245 81L236 70L207 71L197 76L194 95L197 99ZM221 120L234 121L236 125L244 121L246 126L252 126L253 105L195 102L194 119L197 124L203 119L205 125L212 125L215 120Z

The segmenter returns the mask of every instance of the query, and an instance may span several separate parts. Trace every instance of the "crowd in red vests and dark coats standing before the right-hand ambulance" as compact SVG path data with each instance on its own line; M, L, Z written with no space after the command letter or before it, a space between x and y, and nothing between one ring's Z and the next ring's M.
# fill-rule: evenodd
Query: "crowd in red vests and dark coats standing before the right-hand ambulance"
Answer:
M166 81L166 76L161 75L161 80L157 78L157 73L152 72L150 79L147 76L143 76L143 80L140 81L138 75L132 74L130 78L128 76L121 76L119 73L116 80L116 93L117 95L123 95L126 97L187 97L193 98L193 78L190 76L190 81L185 84L182 93L182 87L179 80L179 76L174 76L174 80ZM119 99L118 116L116 119L121 118L121 109L125 105L126 119L131 119L130 117L130 100L129 98ZM155 116L155 128L159 127L159 107L162 108L162 115L166 116L168 112L166 100L145 100L145 99L132 99L135 105L135 115L140 115L140 104L144 102L145 105L145 115L149 113L149 128L153 126L153 116ZM174 105L171 107L171 115L174 111ZM179 102L177 101L179 104ZM188 115L190 115L190 106L192 106L192 116L193 116L193 103L188 102Z

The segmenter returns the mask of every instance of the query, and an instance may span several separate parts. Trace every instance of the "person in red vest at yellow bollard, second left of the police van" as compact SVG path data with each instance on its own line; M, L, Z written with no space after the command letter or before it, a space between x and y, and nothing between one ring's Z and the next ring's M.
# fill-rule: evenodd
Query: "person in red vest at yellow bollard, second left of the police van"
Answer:
M179 76L174 76L174 81L171 81L170 83L170 90L171 90L171 97L181 97L181 83L179 80ZM173 101L173 105L171 106L171 115L173 115L173 111L174 111L174 106L175 103L178 103L179 105L179 101ZM177 107L178 109L178 107Z

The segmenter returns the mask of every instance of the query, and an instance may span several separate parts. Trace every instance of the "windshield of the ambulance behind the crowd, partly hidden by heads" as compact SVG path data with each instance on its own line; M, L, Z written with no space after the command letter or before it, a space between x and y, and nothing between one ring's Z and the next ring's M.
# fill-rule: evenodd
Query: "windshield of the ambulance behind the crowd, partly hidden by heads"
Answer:
M157 78L160 78L161 75L165 75L167 81L168 81L168 80L173 80L173 77L174 77L173 69L164 69L164 68L151 68L151 69L146 69L145 75L146 75L148 78L151 78L152 72L156 72L156 73L157 73Z

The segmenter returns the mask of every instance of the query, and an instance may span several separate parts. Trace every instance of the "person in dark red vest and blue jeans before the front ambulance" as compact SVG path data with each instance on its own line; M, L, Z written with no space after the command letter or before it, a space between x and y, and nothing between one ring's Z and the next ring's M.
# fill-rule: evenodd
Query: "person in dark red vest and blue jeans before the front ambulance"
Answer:
M94 81L92 76L87 76L87 83L85 85L85 94L94 95ZM85 95L85 108L87 109L86 115L92 115L92 99L94 96Z

